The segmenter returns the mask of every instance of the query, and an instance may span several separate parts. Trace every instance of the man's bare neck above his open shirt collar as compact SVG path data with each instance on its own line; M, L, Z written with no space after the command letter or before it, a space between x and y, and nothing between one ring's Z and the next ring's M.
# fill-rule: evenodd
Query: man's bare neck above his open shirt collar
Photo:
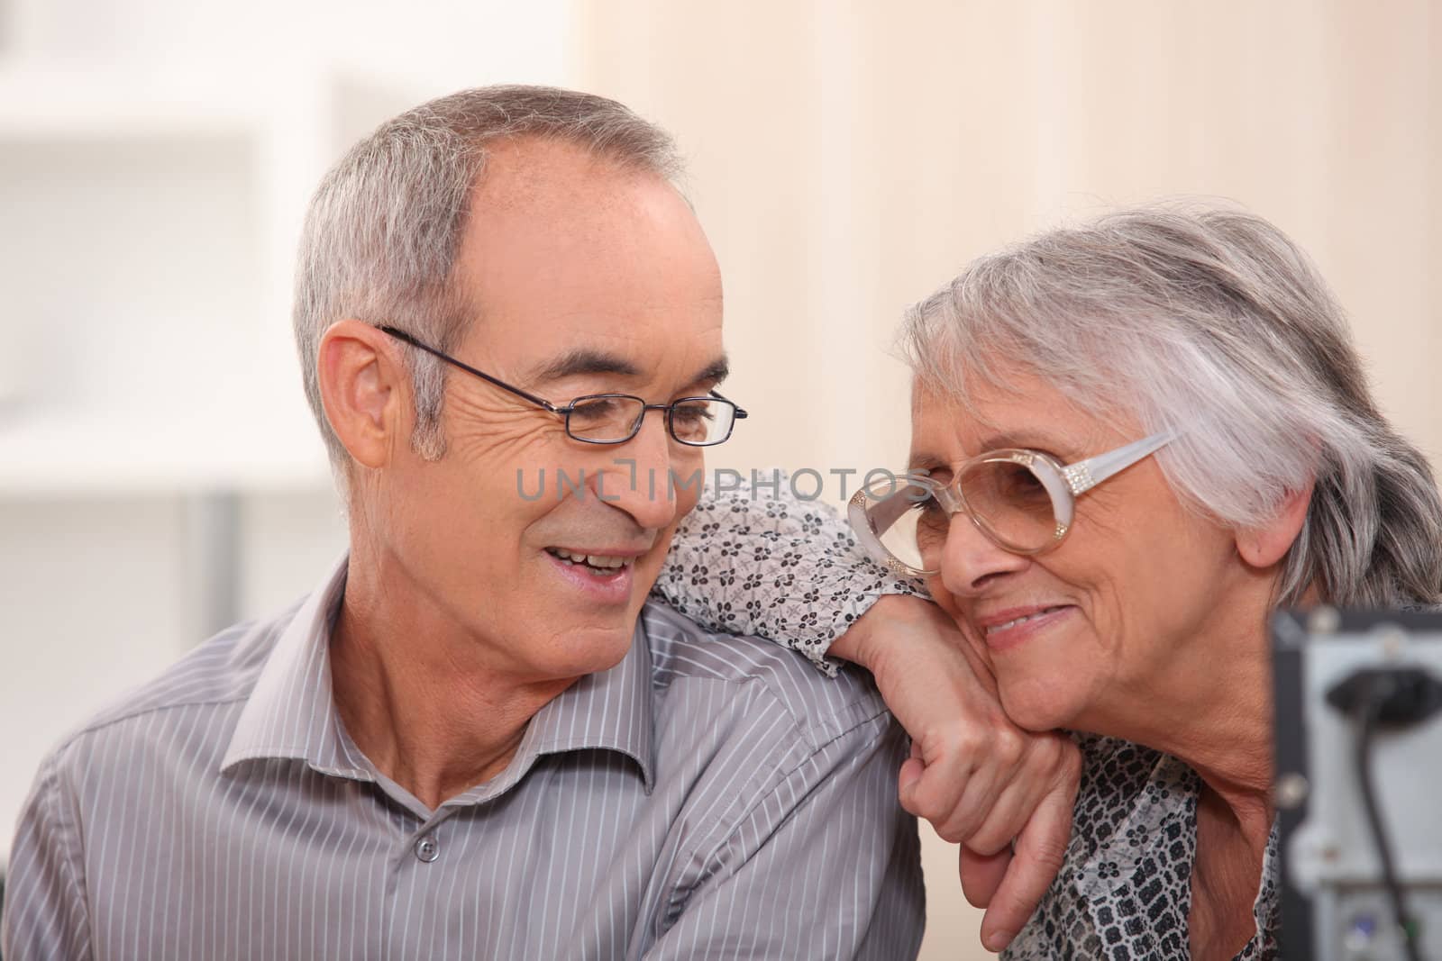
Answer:
M506 769L531 718L575 679L526 681L415 594L352 560L330 637L336 710L356 746L430 810Z

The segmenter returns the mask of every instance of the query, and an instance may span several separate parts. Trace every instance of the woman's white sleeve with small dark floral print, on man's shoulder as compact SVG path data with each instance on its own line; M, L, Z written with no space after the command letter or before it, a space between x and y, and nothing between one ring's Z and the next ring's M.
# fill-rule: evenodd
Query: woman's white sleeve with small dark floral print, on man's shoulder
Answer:
M852 621L883 595L924 588L871 560L841 514L797 497L784 473L757 480L707 487L652 592L708 630L764 637L833 676L826 650Z

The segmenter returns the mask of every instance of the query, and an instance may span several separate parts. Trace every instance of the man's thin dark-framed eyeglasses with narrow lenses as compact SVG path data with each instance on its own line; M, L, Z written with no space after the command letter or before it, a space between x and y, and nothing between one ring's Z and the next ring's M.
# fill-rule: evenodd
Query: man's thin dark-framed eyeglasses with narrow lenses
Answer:
M476 367L441 353L398 327L379 327L378 330L558 415L565 422L567 435L583 444L624 444L640 431L646 411L665 411L666 431L678 444L712 447L730 438L735 422L747 416L746 411L715 390L707 396L681 398L671 403L646 403L645 399L630 393L588 393L584 398L575 398L565 406L558 406L529 390L513 388L499 377L476 370Z

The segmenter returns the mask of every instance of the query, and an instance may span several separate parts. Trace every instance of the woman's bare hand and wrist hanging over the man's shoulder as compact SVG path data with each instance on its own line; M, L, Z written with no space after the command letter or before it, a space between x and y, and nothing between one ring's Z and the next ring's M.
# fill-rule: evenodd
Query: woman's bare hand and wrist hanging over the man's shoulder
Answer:
M911 736L901 807L960 843L962 890L986 908L982 944L1001 951L1061 869L1082 755L1069 736L1007 718L981 651L934 604L893 595L829 653L872 673Z

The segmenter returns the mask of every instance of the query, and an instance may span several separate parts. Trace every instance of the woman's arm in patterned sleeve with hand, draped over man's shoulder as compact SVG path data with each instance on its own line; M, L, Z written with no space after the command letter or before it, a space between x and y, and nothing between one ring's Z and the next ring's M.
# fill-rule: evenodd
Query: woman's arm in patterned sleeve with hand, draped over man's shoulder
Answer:
M676 529L655 594L828 673L833 657L867 667L913 741L901 805L962 844L962 889L988 908L982 941L999 949L1021 929L1061 867L1080 754L1066 735L1011 723L978 648L919 584L872 562L833 509L780 477L708 490Z

